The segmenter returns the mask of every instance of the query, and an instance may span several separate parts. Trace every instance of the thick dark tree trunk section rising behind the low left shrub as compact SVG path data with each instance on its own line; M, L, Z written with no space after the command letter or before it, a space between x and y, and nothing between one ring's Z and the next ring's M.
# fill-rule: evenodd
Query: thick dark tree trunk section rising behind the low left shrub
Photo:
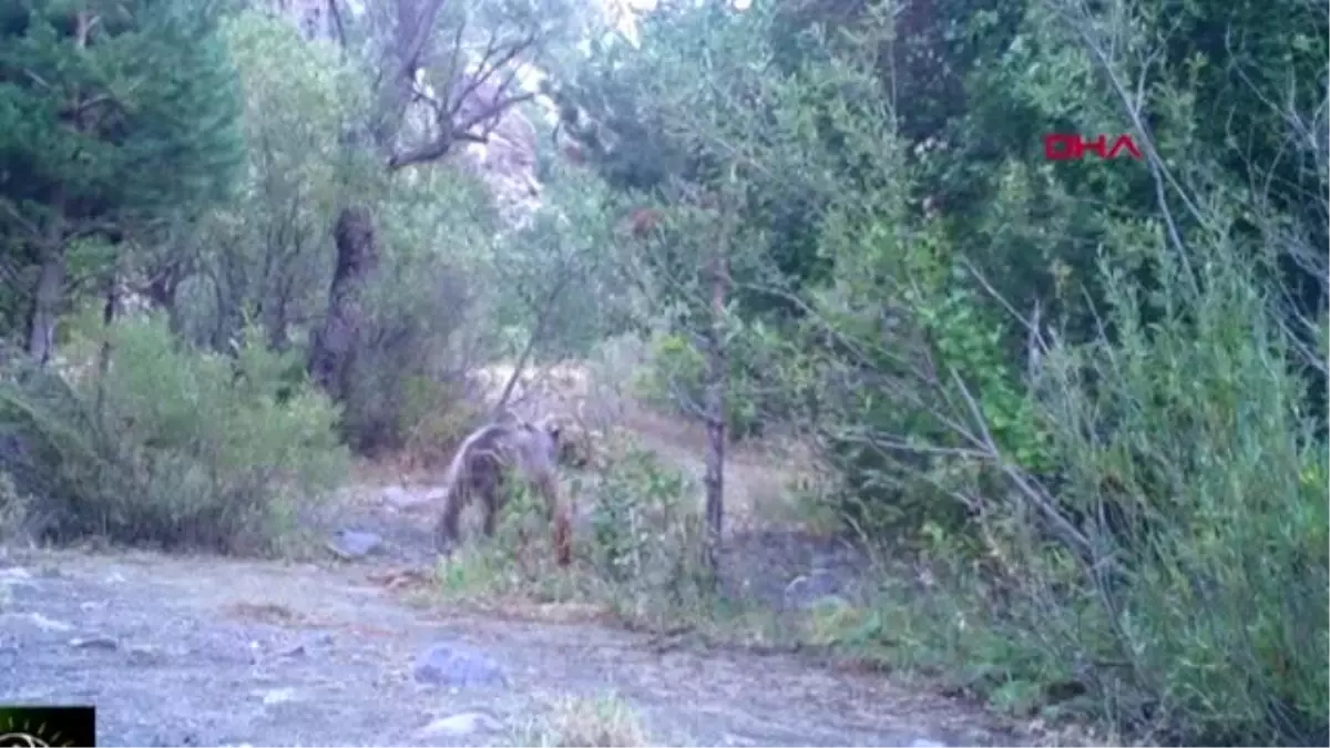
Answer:
M374 216L363 205L343 208L332 229L336 268L323 327L310 346L310 377L336 401L347 394L351 358L364 323L364 283L378 268Z

